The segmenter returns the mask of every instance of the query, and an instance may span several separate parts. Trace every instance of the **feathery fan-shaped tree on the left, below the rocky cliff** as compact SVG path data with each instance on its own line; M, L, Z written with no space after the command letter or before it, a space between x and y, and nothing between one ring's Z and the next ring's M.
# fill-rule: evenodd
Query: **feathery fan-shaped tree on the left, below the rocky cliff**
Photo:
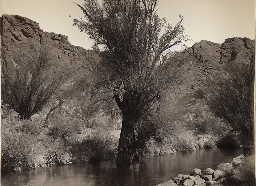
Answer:
M31 58L23 60L28 65L16 65L14 73L7 62L3 61L1 93L4 102L19 113L21 120L29 120L33 114L43 109L67 74L63 69L51 74L47 72L52 55L51 49L46 45L40 45L35 64ZM31 64L32 69L29 66Z

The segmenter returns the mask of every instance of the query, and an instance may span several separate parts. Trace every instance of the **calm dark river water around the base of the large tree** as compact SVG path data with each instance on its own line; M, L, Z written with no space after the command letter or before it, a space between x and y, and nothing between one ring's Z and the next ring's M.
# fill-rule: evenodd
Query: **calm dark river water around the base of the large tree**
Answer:
M1 186L150 186L169 181L177 174L189 174L194 168L215 169L223 162L245 154L244 149L201 149L144 159L132 169L116 168L115 159L84 165L53 166L7 174Z

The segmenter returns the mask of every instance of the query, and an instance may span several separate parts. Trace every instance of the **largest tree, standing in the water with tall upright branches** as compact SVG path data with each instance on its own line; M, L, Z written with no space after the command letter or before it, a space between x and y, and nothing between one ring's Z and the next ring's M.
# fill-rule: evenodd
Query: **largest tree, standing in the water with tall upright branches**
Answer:
M157 0L103 0L102 6L84 0L78 6L87 20L74 19L73 25L95 41L103 59L89 70L99 75L97 85L113 91L122 114L117 165L129 166L135 151L156 135L149 117L152 104L175 83L181 63L169 49L189 40L183 17L175 27L167 24L157 15Z

